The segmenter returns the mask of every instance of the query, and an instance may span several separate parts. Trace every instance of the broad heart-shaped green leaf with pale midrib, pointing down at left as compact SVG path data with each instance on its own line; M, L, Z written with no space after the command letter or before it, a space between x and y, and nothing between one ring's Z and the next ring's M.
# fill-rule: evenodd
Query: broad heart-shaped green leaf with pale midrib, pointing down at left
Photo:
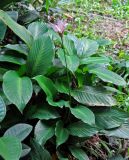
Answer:
M32 96L32 82L28 77L19 77L15 71L8 71L3 77L3 91L22 112Z

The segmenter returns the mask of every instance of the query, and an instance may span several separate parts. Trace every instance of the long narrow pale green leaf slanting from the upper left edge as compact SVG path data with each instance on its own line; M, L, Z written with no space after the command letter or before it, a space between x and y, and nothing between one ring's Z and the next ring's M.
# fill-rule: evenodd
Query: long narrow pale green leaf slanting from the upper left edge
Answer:
M0 19L31 48L32 36L23 26L16 23L6 12L0 10Z

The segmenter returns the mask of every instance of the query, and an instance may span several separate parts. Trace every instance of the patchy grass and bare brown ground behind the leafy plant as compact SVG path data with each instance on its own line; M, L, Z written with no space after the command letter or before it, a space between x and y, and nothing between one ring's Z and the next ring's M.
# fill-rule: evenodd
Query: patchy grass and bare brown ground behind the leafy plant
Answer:
M129 51L129 4L89 0L59 7L58 18L67 21L70 33L78 37L108 39L110 46L105 50L108 55L121 57Z

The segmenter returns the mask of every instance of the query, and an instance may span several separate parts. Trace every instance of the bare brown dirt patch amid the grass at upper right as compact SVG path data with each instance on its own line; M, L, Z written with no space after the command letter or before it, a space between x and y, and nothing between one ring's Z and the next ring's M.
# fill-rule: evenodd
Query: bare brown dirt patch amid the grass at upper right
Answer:
M90 14L89 16L91 20L95 21L92 27L97 34L112 40L125 39L128 36L129 22L97 14Z

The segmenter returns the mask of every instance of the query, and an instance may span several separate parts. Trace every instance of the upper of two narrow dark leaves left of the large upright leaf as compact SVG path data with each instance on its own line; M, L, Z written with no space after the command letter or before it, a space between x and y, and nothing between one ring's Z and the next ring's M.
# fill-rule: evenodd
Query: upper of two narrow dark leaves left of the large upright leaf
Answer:
M8 49L17 51L19 53L22 53L24 55L28 55L28 47L25 44L7 44L4 46Z

